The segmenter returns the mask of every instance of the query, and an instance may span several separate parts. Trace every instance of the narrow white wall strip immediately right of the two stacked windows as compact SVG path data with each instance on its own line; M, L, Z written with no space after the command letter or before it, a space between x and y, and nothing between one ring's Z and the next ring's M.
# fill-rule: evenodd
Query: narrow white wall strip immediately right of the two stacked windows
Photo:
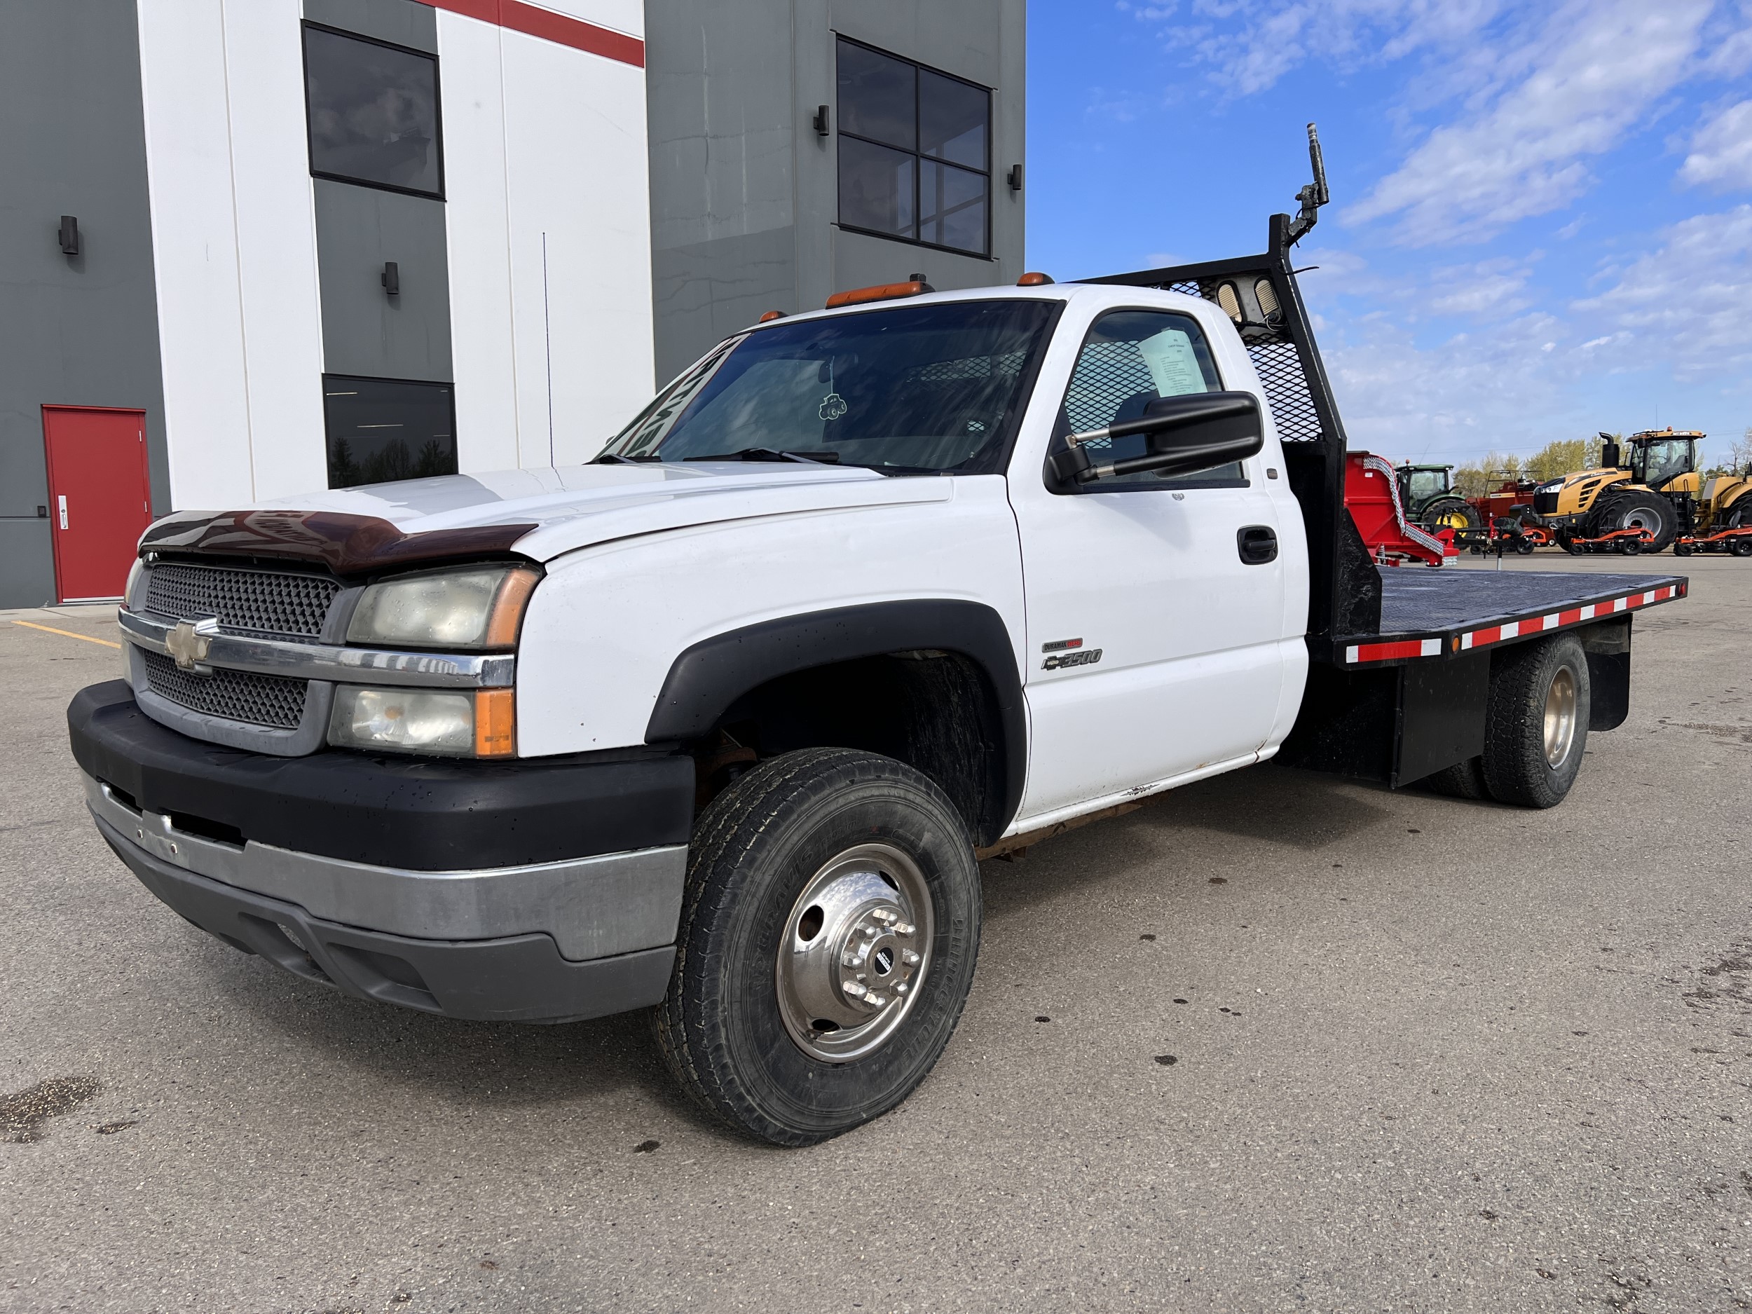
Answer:
M520 464L517 356L512 343L499 28L438 11L438 60L457 468L515 468ZM545 442L545 405L541 433Z

